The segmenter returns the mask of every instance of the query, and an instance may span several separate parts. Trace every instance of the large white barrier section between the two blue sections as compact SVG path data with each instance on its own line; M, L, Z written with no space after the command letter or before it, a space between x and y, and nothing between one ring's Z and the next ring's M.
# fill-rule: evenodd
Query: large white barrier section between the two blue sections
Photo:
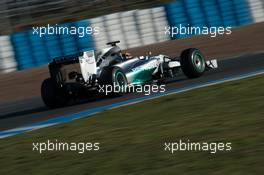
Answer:
M168 21L164 7L114 13L93 18L90 23L100 28L100 34L93 36L96 49L116 40L127 49L170 39L165 35Z

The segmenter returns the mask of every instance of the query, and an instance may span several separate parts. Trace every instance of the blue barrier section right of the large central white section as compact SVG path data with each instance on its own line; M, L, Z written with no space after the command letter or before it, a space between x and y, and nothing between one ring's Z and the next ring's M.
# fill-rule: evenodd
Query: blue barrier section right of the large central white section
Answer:
M253 22L247 0L177 0L165 8L169 25L174 27L238 27Z

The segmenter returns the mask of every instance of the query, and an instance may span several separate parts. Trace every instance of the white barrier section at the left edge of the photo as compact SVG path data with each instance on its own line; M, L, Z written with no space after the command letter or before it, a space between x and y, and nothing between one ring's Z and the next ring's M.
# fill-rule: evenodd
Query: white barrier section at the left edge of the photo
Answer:
M4 73L17 70L13 46L9 36L0 36L0 71Z

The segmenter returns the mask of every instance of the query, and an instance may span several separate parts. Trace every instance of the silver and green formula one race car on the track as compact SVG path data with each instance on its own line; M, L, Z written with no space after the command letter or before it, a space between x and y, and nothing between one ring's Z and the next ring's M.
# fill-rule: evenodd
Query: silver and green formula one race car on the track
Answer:
M102 85L121 86L120 95L127 86L161 83L181 71L188 78L197 78L206 70L217 68L216 60L205 61L195 48L184 50L179 58L151 53L132 57L123 54L117 43L109 42L110 46L99 52L89 50L53 59L49 64L50 78L41 86L44 103L51 108L61 107L72 99L98 94Z

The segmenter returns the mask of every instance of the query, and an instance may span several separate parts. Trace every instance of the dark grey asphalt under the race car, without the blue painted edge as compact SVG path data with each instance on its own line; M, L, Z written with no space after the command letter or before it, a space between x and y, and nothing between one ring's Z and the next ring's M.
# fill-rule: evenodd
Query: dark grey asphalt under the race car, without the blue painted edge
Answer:
M264 70L264 54L245 55L218 62L219 68L206 72L197 79L187 79L184 75L166 84L166 90L189 88L197 84L221 80L233 76ZM110 105L129 99L144 96L143 94L126 94L117 98L96 99L58 109L48 109L40 97L34 97L15 103L0 104L0 131L26 126L58 116L73 114L87 109Z

